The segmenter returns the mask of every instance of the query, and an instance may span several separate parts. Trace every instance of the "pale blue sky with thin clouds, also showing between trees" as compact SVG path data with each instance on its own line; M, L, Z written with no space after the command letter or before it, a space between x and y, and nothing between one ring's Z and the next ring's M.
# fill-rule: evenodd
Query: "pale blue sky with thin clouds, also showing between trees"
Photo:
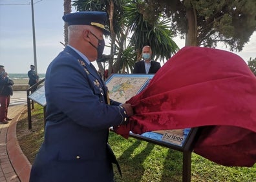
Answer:
M0 0L0 65L10 74L26 74L34 65L32 9L30 0ZM75 12L72 8L72 12ZM37 72L44 74L48 65L64 46L63 0L34 0ZM182 48L184 39L175 37ZM228 50L224 45L219 49ZM228 50L229 51L229 50ZM103 54L109 54L105 48ZM244 45L242 52L234 52L245 61L256 57L256 32ZM95 61L96 62L96 61ZM96 63L94 63L96 65ZM98 67L98 66L96 66Z

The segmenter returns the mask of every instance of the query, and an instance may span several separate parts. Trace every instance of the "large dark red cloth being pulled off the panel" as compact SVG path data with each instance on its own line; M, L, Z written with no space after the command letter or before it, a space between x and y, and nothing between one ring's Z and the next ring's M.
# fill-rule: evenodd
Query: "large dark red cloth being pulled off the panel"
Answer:
M204 126L195 153L226 166L256 163L256 77L236 54L184 47L127 103L134 116L114 128L123 137Z

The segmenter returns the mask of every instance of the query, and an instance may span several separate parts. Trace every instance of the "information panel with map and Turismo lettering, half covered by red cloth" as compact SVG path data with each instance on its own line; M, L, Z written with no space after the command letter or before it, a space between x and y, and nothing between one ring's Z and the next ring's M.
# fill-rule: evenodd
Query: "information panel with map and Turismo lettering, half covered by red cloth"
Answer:
M112 74L105 82L109 89L109 98L125 103L125 101L144 90L153 76L153 74ZM157 130L145 132L141 135L132 132L130 134L145 141L182 150L191 132L191 128L185 128L180 130Z

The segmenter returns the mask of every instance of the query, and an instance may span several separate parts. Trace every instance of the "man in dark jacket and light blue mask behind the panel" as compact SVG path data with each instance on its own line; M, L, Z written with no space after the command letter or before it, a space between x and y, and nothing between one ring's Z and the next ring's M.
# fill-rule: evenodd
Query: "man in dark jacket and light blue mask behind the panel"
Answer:
M142 48L142 61L138 61L134 65L133 74L155 74L160 68L160 63L151 59L151 46Z

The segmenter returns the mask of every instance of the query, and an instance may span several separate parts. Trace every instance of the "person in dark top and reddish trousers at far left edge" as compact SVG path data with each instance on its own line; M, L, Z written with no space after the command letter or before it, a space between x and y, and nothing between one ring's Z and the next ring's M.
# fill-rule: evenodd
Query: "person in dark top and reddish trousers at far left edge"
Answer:
M12 96L12 85L14 81L5 72L5 66L0 65L0 123L6 124L12 119L7 117L10 96Z

